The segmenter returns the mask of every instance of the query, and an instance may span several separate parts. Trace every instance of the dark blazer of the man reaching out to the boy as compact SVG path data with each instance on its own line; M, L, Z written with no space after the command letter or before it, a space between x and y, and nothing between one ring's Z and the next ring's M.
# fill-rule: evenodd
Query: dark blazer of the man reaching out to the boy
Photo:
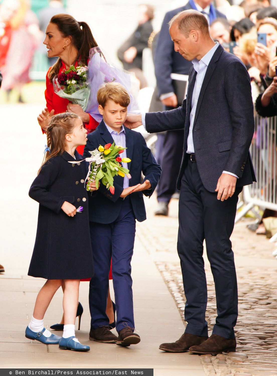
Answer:
M150 133L185 127L183 159L177 180L179 190L185 168L196 74L192 67L188 93L182 106L145 115L146 130ZM239 58L219 45L207 67L192 132L197 168L208 191L215 191L223 171L239 177L237 186L256 181L249 153L253 133L254 109L248 71Z

